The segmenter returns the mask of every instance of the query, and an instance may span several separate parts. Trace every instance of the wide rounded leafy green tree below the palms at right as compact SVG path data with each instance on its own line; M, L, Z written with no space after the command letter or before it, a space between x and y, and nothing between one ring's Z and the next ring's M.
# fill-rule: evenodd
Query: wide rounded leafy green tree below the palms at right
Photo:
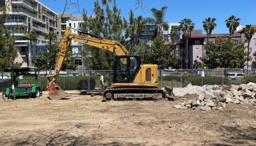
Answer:
M215 42L208 42L204 47L209 60L200 58L203 63L209 62L211 68L241 68L244 66L247 53L244 51L244 44L231 36L218 37Z

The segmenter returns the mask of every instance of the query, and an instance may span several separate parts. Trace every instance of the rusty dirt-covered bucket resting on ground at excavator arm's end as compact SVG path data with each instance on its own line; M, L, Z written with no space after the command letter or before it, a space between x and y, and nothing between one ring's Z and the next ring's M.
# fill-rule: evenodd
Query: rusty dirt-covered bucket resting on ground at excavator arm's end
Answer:
M48 97L51 100L60 100L65 97L68 97L68 96L71 96L71 94L65 92L64 90L62 90L59 87L53 87L52 89L50 89L50 91L48 93Z

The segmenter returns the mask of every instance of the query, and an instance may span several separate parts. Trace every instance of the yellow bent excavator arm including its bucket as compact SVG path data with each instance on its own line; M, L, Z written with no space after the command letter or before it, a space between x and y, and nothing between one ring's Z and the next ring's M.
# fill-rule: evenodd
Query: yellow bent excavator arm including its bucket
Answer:
M77 30L77 29L75 29ZM80 30L77 30L80 31ZM83 32L81 33L87 34L89 36L72 34L71 28L67 27L66 31L61 39L60 44L58 45L58 51L55 59L55 72L47 75L47 89L49 90L49 98L50 99L62 99L69 96L68 93L63 91L57 84L56 79L58 78L60 69L64 62L64 59L67 55L67 52L70 49L70 44L73 41L80 42L83 44L88 44L91 46L95 46L101 49L105 49L114 53L114 55L128 55L128 50L124 45L108 40L106 38L102 38L99 36L91 35L90 33Z

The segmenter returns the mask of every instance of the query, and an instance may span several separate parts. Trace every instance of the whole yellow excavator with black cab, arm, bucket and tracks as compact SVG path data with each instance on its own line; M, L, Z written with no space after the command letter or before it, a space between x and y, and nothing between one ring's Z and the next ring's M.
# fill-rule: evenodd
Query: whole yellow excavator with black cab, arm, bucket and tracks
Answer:
M112 86L103 92L104 100L116 99L163 99L165 91L158 88L158 65L141 64L139 55L128 55L124 45L92 35L81 30L85 35L72 34L71 27L67 27L58 46L55 60L55 72L47 75L47 89L50 99L63 99L70 94L63 91L57 84L59 71L70 49L71 41L95 46L114 53L114 68Z

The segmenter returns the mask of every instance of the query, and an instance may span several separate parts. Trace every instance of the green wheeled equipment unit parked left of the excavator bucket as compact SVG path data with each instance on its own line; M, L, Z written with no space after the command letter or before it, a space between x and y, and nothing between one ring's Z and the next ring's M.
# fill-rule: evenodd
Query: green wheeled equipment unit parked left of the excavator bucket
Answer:
M14 69L11 68L11 82L12 87L6 88L3 92L2 97L16 100L16 98L30 98L39 97L42 94L43 88L38 86L38 72L36 69L22 68ZM35 76L35 84L31 84L29 81L27 84L18 84L19 80L27 76Z

